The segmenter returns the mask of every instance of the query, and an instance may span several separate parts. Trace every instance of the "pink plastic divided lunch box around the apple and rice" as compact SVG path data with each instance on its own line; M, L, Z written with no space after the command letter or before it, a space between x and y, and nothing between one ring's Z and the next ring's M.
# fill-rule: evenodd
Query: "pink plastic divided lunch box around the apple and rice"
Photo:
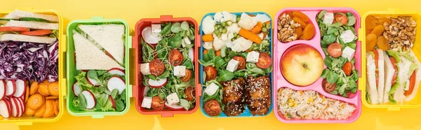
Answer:
M293 45L298 45L298 44L311 45L320 52L323 59L325 58L324 52L321 49L320 29L316 21L316 15L320 13L321 10L327 10L328 12L333 12L333 13L350 12L356 18L355 30L358 30L360 28L360 24L361 24L360 16L356 12L356 10L352 8L284 8L282 10L279 10L279 12L275 16L276 20L274 24L274 30L278 30L277 23L279 21L279 17L281 17L283 13L289 12L289 11L300 11L301 13L304 13L310 18L309 22L313 24L314 28L316 29L314 37L308 41L296 40L296 41L291 41L289 43L281 43L279 40L275 40L276 43L274 44L274 56L273 56L274 57L274 86L273 86L274 91L272 91L272 93L274 95L273 103L275 106L274 108L275 116L281 122L286 122L286 123L351 123L351 122L356 121L361 115L362 107L361 107L361 92L360 91L357 91L356 94L352 94L351 96L349 96L349 98L345 98L342 96L328 94L327 92L325 92L323 88L321 87L321 82L323 78L319 78L319 80L317 80L311 85L308 85L305 87L299 87L288 82L281 73L280 62L281 62L281 57L283 55L283 52L285 52L288 48L292 47ZM356 36L359 36L358 32ZM274 39L278 39L277 32L274 34ZM359 77L361 77L361 73L363 72L361 71L361 42L357 41L356 45L357 45L357 48L356 48L356 52L354 56L355 61L356 61L355 69L359 71L360 73ZM325 65L325 68L326 68L326 65ZM361 85L364 85L363 83L359 83L359 82L363 82L362 79L363 78L359 78L359 81L356 82L360 88L361 88ZM279 113L278 106L276 105L277 104L276 94L278 90L283 87L287 87L294 90L314 90L316 92L319 92L319 94L326 96L327 98L336 99L339 101L352 104L356 107L356 110L354 110L354 113L352 113L352 115L348 117L346 120L290 120L290 119L286 119L285 117L283 117L283 115L281 115L281 113Z

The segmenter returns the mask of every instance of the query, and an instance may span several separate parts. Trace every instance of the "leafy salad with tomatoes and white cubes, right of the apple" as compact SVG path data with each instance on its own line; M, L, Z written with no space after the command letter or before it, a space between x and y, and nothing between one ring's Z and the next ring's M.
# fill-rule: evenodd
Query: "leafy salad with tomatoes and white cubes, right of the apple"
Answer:
M358 89L359 72L355 69L356 19L351 12L331 13L322 10L316 17L321 33L321 48L326 55L323 89L335 95L349 97Z

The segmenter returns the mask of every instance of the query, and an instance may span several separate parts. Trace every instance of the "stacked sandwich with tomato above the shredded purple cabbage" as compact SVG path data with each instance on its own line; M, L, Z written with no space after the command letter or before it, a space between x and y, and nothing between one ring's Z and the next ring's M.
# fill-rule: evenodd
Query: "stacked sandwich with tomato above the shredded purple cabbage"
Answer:
M53 44L58 41L59 18L15 10L0 18L0 41Z

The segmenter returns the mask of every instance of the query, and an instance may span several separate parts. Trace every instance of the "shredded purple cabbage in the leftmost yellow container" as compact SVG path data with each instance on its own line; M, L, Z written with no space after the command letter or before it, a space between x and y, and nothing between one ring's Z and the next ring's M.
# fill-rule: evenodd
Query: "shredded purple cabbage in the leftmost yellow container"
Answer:
M0 80L58 80L58 41L53 44L0 41Z

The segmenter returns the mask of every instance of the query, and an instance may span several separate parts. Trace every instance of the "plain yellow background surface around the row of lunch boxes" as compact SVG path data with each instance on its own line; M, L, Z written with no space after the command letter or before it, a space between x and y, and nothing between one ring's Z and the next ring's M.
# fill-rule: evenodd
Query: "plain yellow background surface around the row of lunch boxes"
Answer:
M227 10L229 12L264 11L274 19L278 10L286 7L351 7L360 15L369 10L401 10L420 11L419 0L213 0L213 1L163 1L163 0L1 0L0 10L13 10L21 7L34 9L57 10L65 20L65 27L71 20L90 19L92 16L105 18L121 18L133 29L135 23L142 18L173 15L174 17L193 17L200 22L203 15L210 12ZM140 115L132 106L123 116L108 116L104 119L91 117L73 117L67 111L55 123L34 123L20 129L421 129L421 108L403 109L388 112L386 109L369 109L363 107L359 120L351 124L284 124L276 120L274 113L265 117L250 118L208 118L200 110L192 115L175 115L160 117L159 115ZM14 124L0 124L0 129L19 129Z

